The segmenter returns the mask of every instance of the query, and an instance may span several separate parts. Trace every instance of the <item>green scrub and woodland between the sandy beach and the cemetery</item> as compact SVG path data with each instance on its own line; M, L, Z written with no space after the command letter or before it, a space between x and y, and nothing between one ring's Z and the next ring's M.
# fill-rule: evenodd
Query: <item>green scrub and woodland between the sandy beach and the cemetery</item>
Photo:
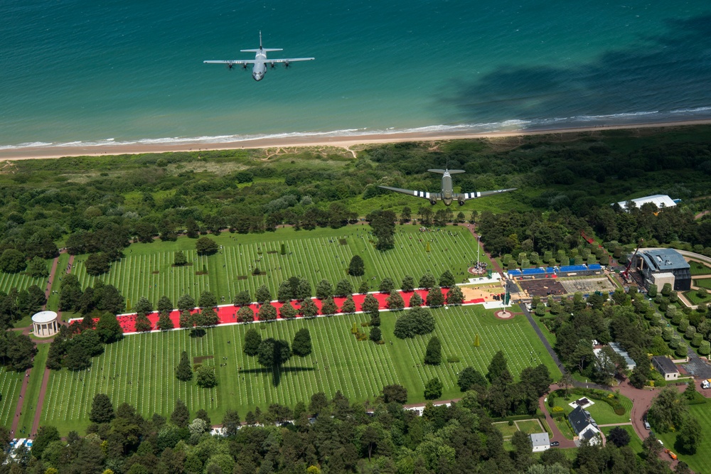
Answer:
M711 216L694 218L711 204L710 136L711 127L695 126L378 145L357 158L307 149L6 162L0 270L24 271L29 259L52 257L58 247L95 254L106 266L132 238L268 232L281 224L337 228L378 209L427 225L479 214L495 254L570 249L579 230L711 254ZM466 170L455 180L461 190L519 190L444 210L377 187L437 191L439 179L427 168L445 166ZM682 203L663 212L611 206L654 193Z

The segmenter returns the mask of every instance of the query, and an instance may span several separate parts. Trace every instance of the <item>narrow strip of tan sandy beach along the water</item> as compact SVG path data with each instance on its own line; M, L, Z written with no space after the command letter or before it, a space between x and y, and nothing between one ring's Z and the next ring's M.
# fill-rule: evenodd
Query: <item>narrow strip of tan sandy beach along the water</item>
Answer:
M19 149L0 150L0 161L28 159L63 158L70 156L113 156L135 155L141 153L166 153L176 151L214 151L235 149L303 148L309 146L333 146L348 151L351 146L368 144L400 143L403 141L444 141L458 139L501 138L525 135L567 134L586 131L669 128L673 126L691 126L711 124L711 119L683 120L679 122L615 124L598 126L580 126L551 129L517 129L510 131L415 131L395 132L392 134L363 134L356 136L301 136L281 138L245 139L226 143L181 142L179 144L116 144L94 146L28 146Z

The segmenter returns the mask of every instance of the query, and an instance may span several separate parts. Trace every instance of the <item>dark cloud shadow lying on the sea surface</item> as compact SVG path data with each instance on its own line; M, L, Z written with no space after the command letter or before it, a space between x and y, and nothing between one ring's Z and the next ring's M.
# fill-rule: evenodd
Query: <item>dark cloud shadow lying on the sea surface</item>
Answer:
M589 63L501 67L462 80L453 96L439 100L473 123L552 117L570 122L579 116L711 106L711 88L703 87L711 77L711 15L666 23L667 31L642 38L643 44L610 50ZM708 116L711 110L700 113Z

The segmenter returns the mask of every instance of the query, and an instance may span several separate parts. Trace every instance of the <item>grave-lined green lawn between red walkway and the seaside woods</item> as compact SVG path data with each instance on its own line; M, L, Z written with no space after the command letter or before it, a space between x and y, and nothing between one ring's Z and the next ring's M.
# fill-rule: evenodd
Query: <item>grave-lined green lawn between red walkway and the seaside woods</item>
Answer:
M335 285L345 278L351 281L354 290L358 289L362 279L368 280L373 289L377 289L385 277L395 281L398 287L407 274L417 283L427 271L439 278L449 269L458 281L471 276L460 275L460 272L466 272L470 262L476 261L476 239L466 227L449 226L444 232L422 234L414 225L397 226L395 249L387 252L378 252L368 242L366 230L369 229L367 226L348 226L338 230L294 231L287 227L259 235L223 233L218 237L208 236L223 247L209 257L198 257L196 240L187 237L176 242L132 244L124 250L125 257L114 263L108 274L87 275L81 263L85 255L77 256L73 273L79 277L82 286L93 284L96 278L116 286L132 304L140 296L146 296L155 304L164 294L173 303L185 293L197 299L208 289L218 298L225 296L225 301L230 302L238 291L246 289L254 295L262 284L269 286L276 298L279 284L289 276L304 276L312 287L322 279ZM341 245L339 238L346 239L346 245ZM424 239L433 240L429 243L430 252L426 251ZM279 254L282 243L286 246L286 255ZM172 266L178 250L186 252L188 262L193 263L191 266ZM362 278L346 274L353 254L359 254L365 262ZM480 259L487 261L483 252ZM266 274L252 276L255 265ZM203 266L208 274L196 275ZM158 273L154 273L156 271Z

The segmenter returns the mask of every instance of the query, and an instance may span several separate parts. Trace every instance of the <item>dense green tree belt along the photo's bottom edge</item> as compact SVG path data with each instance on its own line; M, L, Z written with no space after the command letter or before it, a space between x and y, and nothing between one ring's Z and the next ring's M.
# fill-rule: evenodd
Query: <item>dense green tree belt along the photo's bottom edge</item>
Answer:
M313 394L308 405L272 404L250 411L244 423L232 410L222 420L204 410L191 414L179 399L168 418L144 419L133 406L114 407L96 394L85 436L72 431L61 439L55 427L41 426L31 450L5 458L0 473L671 473L654 436L644 441L641 456L626 446L629 436L604 448L583 443L570 458L559 449L533 454L530 438L515 431L507 449L492 424L491 401L506 395L518 404L518 394L531 392L523 411L535 411L539 391L550 384L541 371L529 367L530 383L511 384L500 352L486 377L471 368L462 372L461 402L429 404L422 416L403 408L407 390L398 385L383 387L372 402L351 403L336 392L331 400ZM215 423L224 436L211 436ZM675 472L689 471L682 463Z

